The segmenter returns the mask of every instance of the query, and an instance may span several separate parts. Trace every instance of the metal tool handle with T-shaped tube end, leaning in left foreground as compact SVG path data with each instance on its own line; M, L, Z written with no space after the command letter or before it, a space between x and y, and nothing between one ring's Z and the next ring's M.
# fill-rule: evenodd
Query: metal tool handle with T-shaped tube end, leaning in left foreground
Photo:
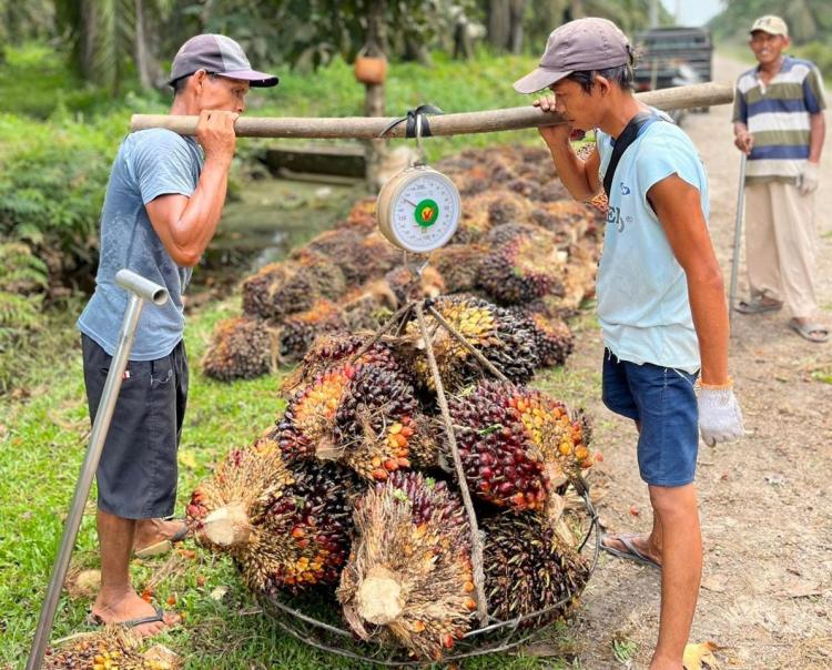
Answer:
M144 305L144 301L150 301L155 305L163 305L168 302L169 297L168 291L163 286L154 284L129 270L120 270L115 274L115 283L128 292L130 301L124 313L124 323L119 333L115 354L110 364L110 370L106 374L106 382L104 383L104 390L101 394L95 420L92 425L87 455L81 464L75 494L72 497L70 511L63 526L63 537L58 549L58 557L52 566L52 576L49 579L49 588L40 611L38 628L34 631L32 650L26 666L27 670L40 670L43 662L43 654L49 643L49 635L52 631L54 612L58 609L58 600L61 597L63 580L67 578L67 570L72 557L72 548L78 537L78 530L81 527L87 498L90 495L92 479L95 476L95 470L101 459L101 451L104 448L110 422L115 412L115 402L121 390L121 382L124 369L128 366L128 358L130 349L133 346L133 338L135 336L135 328L139 325L142 306Z

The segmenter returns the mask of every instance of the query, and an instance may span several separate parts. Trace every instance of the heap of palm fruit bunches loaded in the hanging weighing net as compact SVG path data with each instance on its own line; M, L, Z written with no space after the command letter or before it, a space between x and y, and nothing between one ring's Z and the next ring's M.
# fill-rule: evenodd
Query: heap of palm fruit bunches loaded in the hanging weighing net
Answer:
M526 386L537 361L527 319L467 295L433 304L506 377L425 315L483 538L481 590L412 316L389 336L318 337L284 383L283 414L186 506L196 541L231 556L253 593L311 597L361 640L425 662L480 627L479 593L495 620L526 629L574 610L590 568L569 485L598 459L584 414Z

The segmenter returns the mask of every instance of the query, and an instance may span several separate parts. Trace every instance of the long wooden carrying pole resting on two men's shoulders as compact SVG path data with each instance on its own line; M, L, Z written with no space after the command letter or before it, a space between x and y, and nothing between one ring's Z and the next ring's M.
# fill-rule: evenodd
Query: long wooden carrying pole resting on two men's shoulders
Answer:
M637 93L636 98L662 110L728 104L733 101L733 85L709 82L647 91ZM130 130L166 128L180 135L193 135L196 131L196 116L171 116L165 114L133 114ZM305 118L252 118L241 116L234 124L240 138L319 138L319 139L357 139L372 140L379 136L404 138L405 124L399 123L389 131L385 129L396 118L385 116L344 116L329 119ZM526 105L505 110L484 112L464 112L430 116L430 132L434 135L460 135L467 133L487 133L500 130L519 130L540 125L562 123L560 114L541 112L538 108Z

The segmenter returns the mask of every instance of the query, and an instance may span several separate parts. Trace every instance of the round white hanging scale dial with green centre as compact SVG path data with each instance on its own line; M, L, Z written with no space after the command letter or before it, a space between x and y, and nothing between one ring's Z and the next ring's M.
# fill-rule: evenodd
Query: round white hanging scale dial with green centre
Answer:
M412 253L444 246L456 232L459 192L447 176L427 166L408 168L378 194L378 225L387 240Z

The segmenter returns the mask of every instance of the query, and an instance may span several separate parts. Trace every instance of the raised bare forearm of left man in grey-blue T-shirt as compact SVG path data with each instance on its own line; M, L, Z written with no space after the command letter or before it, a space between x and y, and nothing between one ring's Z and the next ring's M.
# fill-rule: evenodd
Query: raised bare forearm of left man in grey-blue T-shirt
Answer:
M196 189L179 221L172 226L176 246L195 256L202 255L216 232L229 187L229 163L206 160Z

